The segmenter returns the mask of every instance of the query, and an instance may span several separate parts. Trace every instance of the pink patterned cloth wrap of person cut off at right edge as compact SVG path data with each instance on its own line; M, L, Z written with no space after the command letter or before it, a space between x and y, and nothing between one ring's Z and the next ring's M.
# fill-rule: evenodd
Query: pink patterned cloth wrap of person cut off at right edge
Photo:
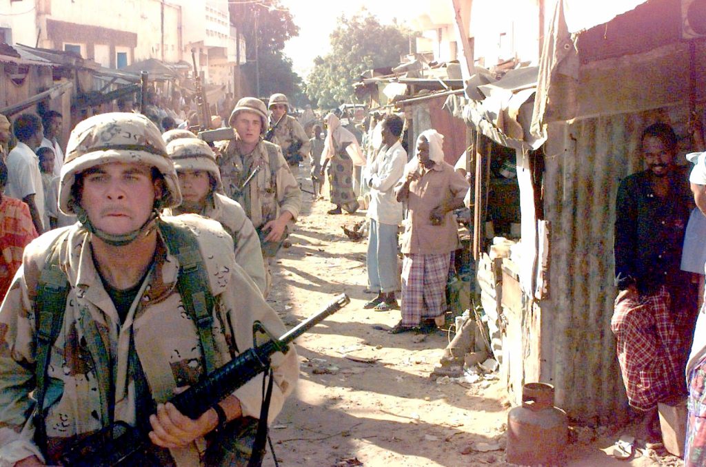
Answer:
M684 467L706 466L706 358L689 375Z

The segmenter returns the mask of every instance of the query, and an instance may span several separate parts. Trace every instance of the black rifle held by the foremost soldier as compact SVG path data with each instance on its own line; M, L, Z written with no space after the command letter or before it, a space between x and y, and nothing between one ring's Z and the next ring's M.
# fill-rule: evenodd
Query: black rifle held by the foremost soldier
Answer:
M270 341L244 351L221 368L210 372L186 391L174 396L169 402L174 404L181 413L196 420L209 408L232 394L234 390L268 370L273 353L287 353L289 344L294 339L348 303L350 298L345 293L341 293L326 308L306 318L279 339L271 336L261 322L254 322L253 332L256 330L265 332L270 335ZM143 426L149 427L150 423L145 420ZM74 444L61 456L61 464L80 467L149 465L154 462L150 461L150 454L148 454L151 442L146 436L147 432L148 430L140 430L139 427L116 422Z

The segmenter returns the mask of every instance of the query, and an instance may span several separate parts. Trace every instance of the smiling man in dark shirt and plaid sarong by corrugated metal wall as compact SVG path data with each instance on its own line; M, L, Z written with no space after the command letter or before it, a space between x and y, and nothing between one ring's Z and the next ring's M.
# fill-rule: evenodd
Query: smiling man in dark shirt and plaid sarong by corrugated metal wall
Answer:
M681 271L693 205L686 170L674 164L669 125L645 129L647 170L621 181L616 200L615 268L619 293L611 329L630 406L642 413L636 437L659 441L657 403L684 392L684 368L697 290Z

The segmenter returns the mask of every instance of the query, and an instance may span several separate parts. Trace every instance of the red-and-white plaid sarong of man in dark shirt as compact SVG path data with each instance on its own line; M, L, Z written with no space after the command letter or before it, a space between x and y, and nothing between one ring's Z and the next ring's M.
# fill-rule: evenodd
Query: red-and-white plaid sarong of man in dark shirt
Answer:
M635 296L623 291L616 298L611 330L616 336L618 362L630 406L647 411L675 394L683 382L679 339L670 314L666 287Z

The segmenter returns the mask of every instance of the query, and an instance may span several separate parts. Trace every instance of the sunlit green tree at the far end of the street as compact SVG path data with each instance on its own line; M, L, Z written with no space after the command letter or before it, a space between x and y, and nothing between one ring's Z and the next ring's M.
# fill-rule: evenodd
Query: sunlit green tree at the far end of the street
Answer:
M307 95L323 109L352 102L353 83L361 73L400 63L400 57L409 52L410 34L397 23L381 24L368 11L350 19L340 16L330 35L330 53L314 59Z

